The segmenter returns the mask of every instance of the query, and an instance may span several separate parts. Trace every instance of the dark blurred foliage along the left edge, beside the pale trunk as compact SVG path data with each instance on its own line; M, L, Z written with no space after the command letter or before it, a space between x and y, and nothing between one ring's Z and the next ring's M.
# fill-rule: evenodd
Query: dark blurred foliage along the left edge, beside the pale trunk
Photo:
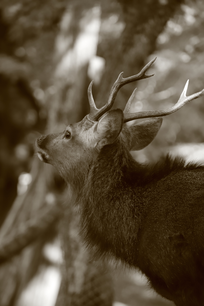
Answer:
M66 1L0 3L0 223L30 170L36 130L46 122L44 88Z

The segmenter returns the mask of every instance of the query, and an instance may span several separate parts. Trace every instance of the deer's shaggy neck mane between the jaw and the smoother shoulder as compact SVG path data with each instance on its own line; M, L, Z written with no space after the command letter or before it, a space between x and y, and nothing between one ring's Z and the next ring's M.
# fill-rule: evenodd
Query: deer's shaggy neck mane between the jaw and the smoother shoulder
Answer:
M139 165L118 143L102 149L81 194L82 233L99 254L135 263L145 207L135 186ZM133 249L134 248L134 249Z

